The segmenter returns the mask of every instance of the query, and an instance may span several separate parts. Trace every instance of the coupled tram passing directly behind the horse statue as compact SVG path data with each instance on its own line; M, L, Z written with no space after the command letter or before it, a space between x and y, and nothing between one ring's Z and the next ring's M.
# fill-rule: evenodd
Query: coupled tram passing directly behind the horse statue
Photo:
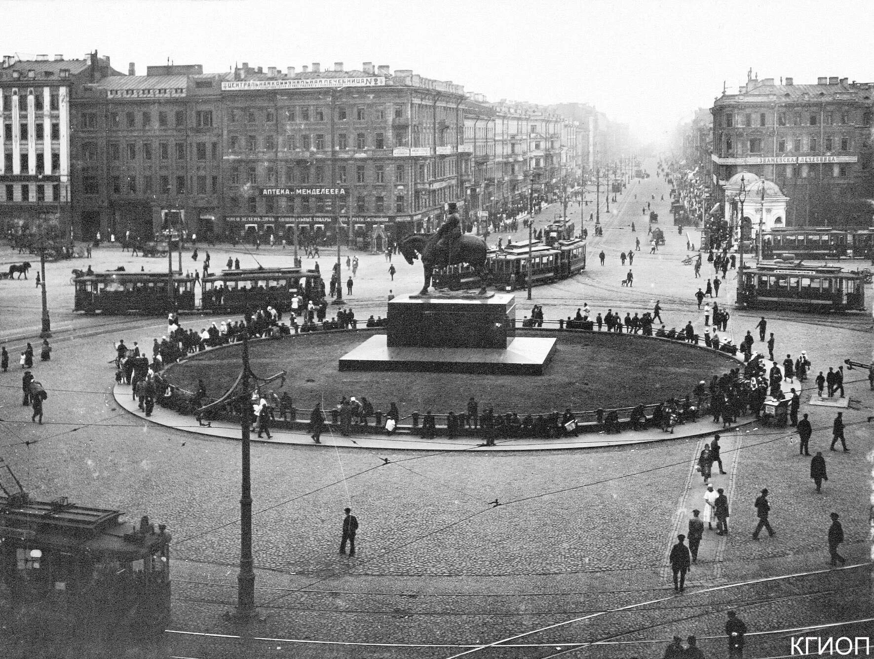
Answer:
M528 241L514 243L502 250L489 250L486 269L489 285L512 291L528 285ZM539 241L531 243L531 285L540 286L579 274L586 269L586 241L556 239L551 246ZM434 272L436 288L475 288L481 285L479 275L468 265L440 268Z

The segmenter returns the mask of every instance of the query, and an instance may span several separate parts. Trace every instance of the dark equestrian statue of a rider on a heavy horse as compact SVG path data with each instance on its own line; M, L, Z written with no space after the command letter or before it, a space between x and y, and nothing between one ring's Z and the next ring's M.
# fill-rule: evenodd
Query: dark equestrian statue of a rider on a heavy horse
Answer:
M413 233L402 239L398 245L400 253L411 266L413 260L421 256L425 269L425 286L420 295L427 295L431 286L434 268L467 263L472 266L482 283L480 295L485 295L488 271L486 270L485 241L469 233L461 232L458 206L449 202L449 216L436 233Z

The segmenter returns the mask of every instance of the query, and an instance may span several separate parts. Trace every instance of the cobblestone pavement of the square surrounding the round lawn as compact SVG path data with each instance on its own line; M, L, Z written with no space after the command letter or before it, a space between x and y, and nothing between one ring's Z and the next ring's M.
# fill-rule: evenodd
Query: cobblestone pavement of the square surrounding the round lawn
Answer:
M669 228L662 193L667 198L659 179L635 181L617 214L602 213L605 235L590 241L586 273L535 289L532 302L544 305L547 318L572 314L582 302L624 314L651 309L660 299L669 327L690 319L701 324L691 295L697 283L691 268L680 263L685 239L681 245L676 232L666 231L667 245L659 253L635 259L635 288L619 286L628 267L615 255L633 246L630 221L645 219L635 214L641 198L656 194L651 203ZM571 210L572 217L579 213ZM551 219L550 213L542 213L541 221ZM591 223L586 225L591 232ZM604 267L596 258L602 247L610 254ZM217 264L229 253L210 251ZM16 259L6 248L0 252L4 262ZM280 259L259 254L265 265ZM400 263L391 282L382 255L359 259L350 300L357 316L384 312L388 288L420 285L418 264ZM101 247L94 268L128 262L150 261ZM545 657L568 644L605 641L623 644L569 656L662 656L672 635L697 634L711 657L724 656L722 626L732 607L752 632L872 617L867 561L874 452L867 418L874 412L867 381L851 371L844 411L851 453L828 451L836 410L808 406L808 395L802 397L801 412L810 414L815 427L811 449L823 450L828 463L829 482L821 494L808 478L809 460L798 455L792 428L751 426L723 435L729 473L720 482L729 484L732 533L720 543L723 538L705 534L701 559L679 597L665 566L677 529L702 495L693 470L701 440L525 454L253 445L256 598L264 620L239 627L223 617L236 598L239 444L158 427L117 406L108 364L113 341L151 343L163 333L163 323L73 316L67 279L74 266L80 264L47 267L57 335L52 361L34 369L50 393L43 426L32 424L20 405L17 365L0 374L0 457L36 496L69 496L80 504L126 510L131 519L148 514L168 524L174 537L170 629L278 639L170 633L165 648L149 656L448 657L466 646L586 618L515 641L533 644L528 647L470 656ZM731 305L729 280L719 301ZM17 337L38 333L38 290L32 282L0 281L0 295L0 337L10 339L10 354L17 355L23 345ZM768 318L775 352L807 350L815 372L845 357L867 361L871 353L870 317ZM757 320L732 309L730 333L739 339ZM641 377L647 377L646 364ZM753 500L764 487L771 491L777 535L757 542L750 537ZM361 524L355 558L337 553L347 505ZM845 569L826 565L831 511L841 514L847 535ZM601 613L619 607L628 608ZM829 634L870 635L870 628L845 624ZM751 637L747 656L788 655L787 635Z

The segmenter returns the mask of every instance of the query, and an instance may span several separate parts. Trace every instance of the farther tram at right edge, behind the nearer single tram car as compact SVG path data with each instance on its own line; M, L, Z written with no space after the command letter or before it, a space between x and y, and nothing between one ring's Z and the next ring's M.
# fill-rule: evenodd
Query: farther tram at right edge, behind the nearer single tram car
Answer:
M792 254L799 259L840 259L870 257L874 249L874 227L835 229L833 227L783 227L762 233L762 256L780 259Z

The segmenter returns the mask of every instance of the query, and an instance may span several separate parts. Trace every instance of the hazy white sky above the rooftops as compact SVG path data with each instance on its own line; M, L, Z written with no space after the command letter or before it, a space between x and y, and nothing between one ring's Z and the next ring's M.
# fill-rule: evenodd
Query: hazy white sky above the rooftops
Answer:
M750 67L874 81L872 19L872 0L0 0L0 54L97 49L124 73L371 61L489 101L592 103L659 141Z

